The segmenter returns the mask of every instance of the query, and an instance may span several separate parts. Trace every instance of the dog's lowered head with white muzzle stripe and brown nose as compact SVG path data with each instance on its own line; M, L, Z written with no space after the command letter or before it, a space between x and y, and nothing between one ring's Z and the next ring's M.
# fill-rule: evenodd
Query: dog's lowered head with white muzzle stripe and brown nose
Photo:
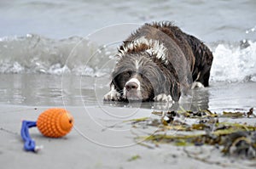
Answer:
M123 99L152 100L165 90L167 82L160 64L146 52L125 54L113 70L112 85Z

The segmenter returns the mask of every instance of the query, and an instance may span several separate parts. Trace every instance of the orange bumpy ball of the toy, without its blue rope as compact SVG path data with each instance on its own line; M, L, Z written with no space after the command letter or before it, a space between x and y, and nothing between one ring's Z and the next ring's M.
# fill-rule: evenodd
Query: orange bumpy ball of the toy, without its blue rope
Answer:
M61 108L45 110L38 116L37 127L46 137L60 138L71 131L73 116Z

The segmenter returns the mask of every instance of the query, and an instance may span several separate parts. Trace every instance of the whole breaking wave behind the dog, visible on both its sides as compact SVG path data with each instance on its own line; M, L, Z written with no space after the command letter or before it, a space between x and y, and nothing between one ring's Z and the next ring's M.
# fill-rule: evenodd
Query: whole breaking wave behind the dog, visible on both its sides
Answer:
M256 42L214 42L213 82L256 82ZM0 73L105 76L117 43L99 46L82 37L55 40L38 35L0 38Z

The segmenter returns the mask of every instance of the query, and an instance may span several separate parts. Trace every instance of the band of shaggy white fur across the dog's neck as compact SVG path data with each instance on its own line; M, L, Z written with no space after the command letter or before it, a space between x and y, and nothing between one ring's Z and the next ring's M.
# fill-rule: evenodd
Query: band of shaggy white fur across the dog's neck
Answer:
M123 50L119 50L119 54L117 54L117 56L120 59L125 54L127 54L129 50L138 48L143 44L148 46L148 49L146 49L145 52L150 55L154 55L158 59L162 59L166 64L168 63L168 60L166 59L167 48L159 41L147 39L145 37L140 37L132 42L129 42L126 46L124 46Z

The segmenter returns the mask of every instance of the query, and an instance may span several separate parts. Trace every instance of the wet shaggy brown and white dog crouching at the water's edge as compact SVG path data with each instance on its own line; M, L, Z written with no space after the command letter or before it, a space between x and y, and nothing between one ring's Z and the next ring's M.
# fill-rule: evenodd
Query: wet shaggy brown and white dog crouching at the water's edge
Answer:
M178 101L209 86L212 52L171 22L145 24L119 47L104 100Z

